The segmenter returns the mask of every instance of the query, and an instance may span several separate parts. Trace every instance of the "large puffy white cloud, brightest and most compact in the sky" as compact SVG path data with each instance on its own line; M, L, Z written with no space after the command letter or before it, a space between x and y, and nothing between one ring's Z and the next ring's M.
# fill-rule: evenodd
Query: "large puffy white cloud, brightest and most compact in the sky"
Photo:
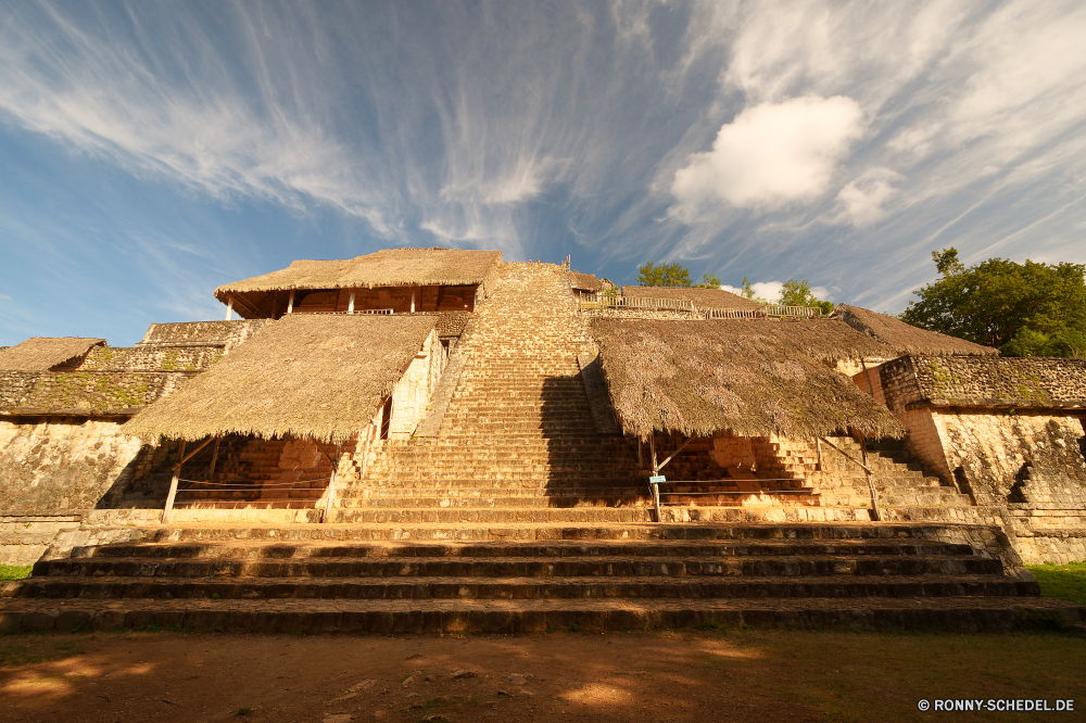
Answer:
M675 172L673 213L689 219L720 201L769 210L817 198L862 132L863 112L844 96L745 109L721 126L711 151L691 155Z

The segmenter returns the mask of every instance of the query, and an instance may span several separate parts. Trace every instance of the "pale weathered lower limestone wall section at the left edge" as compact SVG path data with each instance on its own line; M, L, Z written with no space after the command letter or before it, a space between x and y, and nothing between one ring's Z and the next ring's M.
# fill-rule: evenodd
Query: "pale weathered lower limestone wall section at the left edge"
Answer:
M142 444L122 420L0 420L0 510L35 513L94 507L135 474Z

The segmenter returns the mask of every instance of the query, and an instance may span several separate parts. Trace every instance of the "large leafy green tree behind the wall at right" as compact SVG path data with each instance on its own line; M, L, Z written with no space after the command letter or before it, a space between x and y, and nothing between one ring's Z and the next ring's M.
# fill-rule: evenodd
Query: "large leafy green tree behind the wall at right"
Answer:
M1086 356L1086 265L989 258L967 268L952 246L932 259L940 277L913 292L901 320L1008 356Z

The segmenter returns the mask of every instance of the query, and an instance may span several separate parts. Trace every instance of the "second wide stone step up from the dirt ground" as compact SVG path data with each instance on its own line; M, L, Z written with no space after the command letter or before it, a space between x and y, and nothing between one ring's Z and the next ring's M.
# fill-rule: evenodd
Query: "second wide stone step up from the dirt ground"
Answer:
M29 578L0 583L0 597L215 599L640 599L870 598L1039 595L1037 583L997 575L841 575L681 578Z

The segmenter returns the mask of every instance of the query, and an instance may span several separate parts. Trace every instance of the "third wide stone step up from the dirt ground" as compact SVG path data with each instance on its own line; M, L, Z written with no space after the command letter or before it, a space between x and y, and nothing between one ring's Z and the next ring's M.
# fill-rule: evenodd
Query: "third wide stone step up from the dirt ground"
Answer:
M75 558L39 562L34 579L58 578L769 578L826 575L1002 575L999 560L963 557L565 557L228 560ZM70 582L70 581L61 581Z

